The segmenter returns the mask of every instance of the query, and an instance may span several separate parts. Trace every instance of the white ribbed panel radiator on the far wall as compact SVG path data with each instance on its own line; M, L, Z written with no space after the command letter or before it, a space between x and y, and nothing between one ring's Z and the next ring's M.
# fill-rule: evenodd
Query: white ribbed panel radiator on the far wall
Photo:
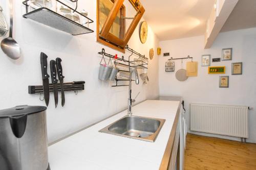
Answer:
M248 107L191 103L190 130L248 138Z

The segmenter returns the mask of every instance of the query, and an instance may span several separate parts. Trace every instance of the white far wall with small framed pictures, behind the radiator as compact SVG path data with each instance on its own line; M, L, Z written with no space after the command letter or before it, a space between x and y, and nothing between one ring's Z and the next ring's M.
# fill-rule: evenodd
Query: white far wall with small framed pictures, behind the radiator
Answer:
M256 28L221 33L211 48L206 50L203 36L160 41L160 47L163 53L169 52L173 58L190 55L193 61L198 61L198 77L190 77L185 82L179 82L175 73L181 68L181 60L175 61L175 72L165 72L165 62L169 57L159 57L160 95L183 97L188 129L190 103L250 106L254 109L249 110L247 141L256 143ZM201 55L210 54L211 58L221 58L222 48L228 47L233 48L232 61L211 62L211 66L226 66L225 76L229 76L229 88L219 88L219 76L224 75L208 75L208 67L201 66ZM231 75L232 62L243 62L243 75ZM240 140L227 136L218 137Z

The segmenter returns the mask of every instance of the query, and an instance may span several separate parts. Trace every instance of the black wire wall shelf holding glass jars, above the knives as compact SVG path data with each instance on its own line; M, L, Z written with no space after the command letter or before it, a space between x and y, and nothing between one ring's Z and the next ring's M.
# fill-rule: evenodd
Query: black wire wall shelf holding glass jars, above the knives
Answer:
M23 2L23 4L26 6L26 14L23 15L24 18L29 18L34 21L37 21L39 23L42 23L46 26L55 28L57 30L72 34L72 35L81 35L81 34L88 34L94 32L93 30L89 29L89 24L93 22L92 19L88 18L87 16L82 15L81 13L77 12L75 9L71 8L70 6L60 2L59 0L52 0L56 1L57 3L60 3L61 5L69 8L72 13L76 13L83 18L86 18L87 26L85 27L81 25L78 22L75 22L61 14L58 14L55 11L52 11L51 9L42 7L39 9L35 9L33 11L29 12L29 3L31 3L31 0L26 0Z

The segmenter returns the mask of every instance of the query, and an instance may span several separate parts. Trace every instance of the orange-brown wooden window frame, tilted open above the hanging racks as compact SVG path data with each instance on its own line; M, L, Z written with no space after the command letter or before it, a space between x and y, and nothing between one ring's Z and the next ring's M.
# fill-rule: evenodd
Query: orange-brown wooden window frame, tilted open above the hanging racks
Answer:
M125 10L125 7L123 6L123 2L124 0L115 0L113 7L101 29L101 32L99 32L99 0L97 0L97 41L111 48L114 48L115 50L118 50L122 53L125 52L125 46L130 40L131 36L133 35L134 30L136 29L142 15L145 12L145 9L140 4L139 0L129 0L129 2L132 4L134 9L137 11L137 14L134 17L127 32L123 33L123 37L122 39L120 39L115 35L111 34L109 31L115 21L117 14L120 12L120 9L124 8ZM120 15L120 17L122 16ZM124 11L123 17L125 17L125 11ZM123 19L123 21L124 21L123 26L125 26L125 19Z

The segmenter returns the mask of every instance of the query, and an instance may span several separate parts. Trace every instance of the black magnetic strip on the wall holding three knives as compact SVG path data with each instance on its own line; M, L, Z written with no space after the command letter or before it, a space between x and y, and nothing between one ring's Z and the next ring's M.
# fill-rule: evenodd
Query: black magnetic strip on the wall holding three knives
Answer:
M53 85L49 84L50 92L53 92ZM84 84L63 84L64 91L75 91L84 90ZM60 84L58 83L58 91L60 90ZM44 93L42 86L29 86L29 94L40 94Z

